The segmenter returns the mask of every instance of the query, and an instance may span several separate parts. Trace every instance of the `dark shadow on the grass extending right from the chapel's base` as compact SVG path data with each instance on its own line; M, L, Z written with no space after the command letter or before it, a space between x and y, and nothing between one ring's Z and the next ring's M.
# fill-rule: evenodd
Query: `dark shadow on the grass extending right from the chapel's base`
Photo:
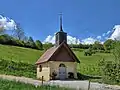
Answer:
M81 73L77 73L78 80L89 80L89 79L101 79L101 76L90 76L90 75L84 75Z

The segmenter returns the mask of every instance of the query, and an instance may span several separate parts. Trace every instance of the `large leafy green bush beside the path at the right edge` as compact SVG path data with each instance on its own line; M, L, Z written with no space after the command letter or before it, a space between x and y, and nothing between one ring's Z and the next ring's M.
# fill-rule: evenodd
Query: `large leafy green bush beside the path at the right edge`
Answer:
M107 84L120 84L120 64L113 61L100 61L102 79Z

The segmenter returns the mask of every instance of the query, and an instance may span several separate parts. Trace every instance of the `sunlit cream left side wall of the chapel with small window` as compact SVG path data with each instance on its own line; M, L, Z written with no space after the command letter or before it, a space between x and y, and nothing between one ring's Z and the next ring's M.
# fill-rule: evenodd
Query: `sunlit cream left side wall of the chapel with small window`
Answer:
M43 63L40 64L42 66L42 71L40 72L39 65L37 65L37 78L42 79L42 76L44 76L45 81L50 80L50 67L49 63Z

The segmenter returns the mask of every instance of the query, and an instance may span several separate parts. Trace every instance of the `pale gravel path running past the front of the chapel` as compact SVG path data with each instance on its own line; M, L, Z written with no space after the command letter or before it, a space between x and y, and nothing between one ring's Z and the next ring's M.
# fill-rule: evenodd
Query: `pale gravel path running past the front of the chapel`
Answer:
M35 86L42 85L41 81L34 80L32 78L17 77L17 76L11 76L11 75L0 75L0 78L33 84ZM87 90L88 88L88 81L55 80L55 81L44 82L44 84L45 85L59 85L61 87L75 88L77 90L81 90L81 89ZM99 84L99 83L93 83L93 82L90 84L90 88L91 88L90 90L120 90L120 86L117 86L117 85L105 85L105 84Z

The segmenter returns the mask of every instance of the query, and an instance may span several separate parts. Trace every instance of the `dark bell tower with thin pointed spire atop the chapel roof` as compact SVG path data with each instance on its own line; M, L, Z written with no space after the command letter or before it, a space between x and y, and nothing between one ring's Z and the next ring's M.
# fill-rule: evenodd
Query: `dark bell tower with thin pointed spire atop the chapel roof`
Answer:
M63 41L67 43L67 33L62 28L62 14L60 14L60 30L55 35L55 45L59 46Z

